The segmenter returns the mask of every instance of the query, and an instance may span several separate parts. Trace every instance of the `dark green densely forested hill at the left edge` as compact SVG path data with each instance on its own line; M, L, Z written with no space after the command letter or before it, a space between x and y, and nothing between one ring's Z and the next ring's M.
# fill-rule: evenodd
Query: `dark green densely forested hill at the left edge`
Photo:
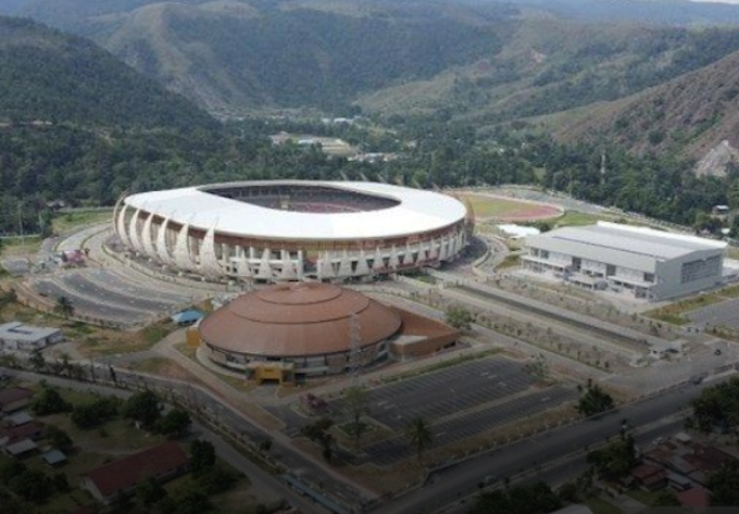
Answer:
M145 128L214 123L93 42L2 16L0 120Z

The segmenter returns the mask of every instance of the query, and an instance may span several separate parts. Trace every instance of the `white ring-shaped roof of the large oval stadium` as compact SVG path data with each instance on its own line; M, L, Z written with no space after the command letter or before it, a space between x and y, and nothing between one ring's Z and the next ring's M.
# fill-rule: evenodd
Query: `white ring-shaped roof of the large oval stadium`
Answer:
M322 186L391 198L400 203L365 212L305 213L234 200L203 189L239 186ZM353 240L402 237L437 230L464 220L466 208L438 192L377 183L270 180L229 183L131 195L125 204L179 224L242 237Z

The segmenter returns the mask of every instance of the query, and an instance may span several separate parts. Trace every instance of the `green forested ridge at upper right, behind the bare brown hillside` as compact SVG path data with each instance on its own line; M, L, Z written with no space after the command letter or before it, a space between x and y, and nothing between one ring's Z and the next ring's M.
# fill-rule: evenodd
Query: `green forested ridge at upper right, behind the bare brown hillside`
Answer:
M372 91L385 115L438 111L478 125L616 100L739 50L739 29L648 27L522 17L500 52L429 79Z

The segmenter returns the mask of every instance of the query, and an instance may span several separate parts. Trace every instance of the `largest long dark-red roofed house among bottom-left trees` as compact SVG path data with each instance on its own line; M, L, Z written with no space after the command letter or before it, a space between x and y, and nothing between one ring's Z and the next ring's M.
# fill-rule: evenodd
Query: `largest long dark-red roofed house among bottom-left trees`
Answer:
M147 478L167 481L188 469L185 451L176 442L167 441L92 469L83 477L82 487L110 503L120 494L133 492Z

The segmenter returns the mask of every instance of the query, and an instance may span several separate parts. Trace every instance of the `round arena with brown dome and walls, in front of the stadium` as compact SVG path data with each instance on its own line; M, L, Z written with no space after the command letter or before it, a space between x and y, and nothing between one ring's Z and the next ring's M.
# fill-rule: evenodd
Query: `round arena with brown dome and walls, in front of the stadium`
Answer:
M401 325L398 312L360 292L292 283L236 298L205 317L199 333L216 364L283 381L384 361Z

